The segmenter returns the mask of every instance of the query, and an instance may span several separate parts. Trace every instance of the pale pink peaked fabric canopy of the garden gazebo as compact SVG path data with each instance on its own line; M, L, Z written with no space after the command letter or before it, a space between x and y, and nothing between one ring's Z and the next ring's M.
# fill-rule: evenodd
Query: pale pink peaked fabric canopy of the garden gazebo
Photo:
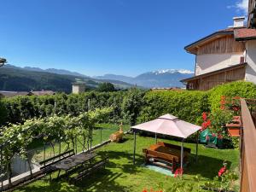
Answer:
M177 119L177 117L172 114L167 113L157 119L132 126L132 128L168 136L187 138L196 131L199 131L201 126L190 124L186 121Z

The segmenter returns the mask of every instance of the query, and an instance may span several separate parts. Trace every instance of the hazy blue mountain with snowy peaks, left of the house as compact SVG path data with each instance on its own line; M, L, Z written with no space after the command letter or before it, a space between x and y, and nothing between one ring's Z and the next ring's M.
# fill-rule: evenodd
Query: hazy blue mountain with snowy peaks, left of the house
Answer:
M142 73L135 78L106 74L104 76L94 77L95 79L115 79L124 81L129 84L137 84L139 86L154 88L154 87L184 87L180 82L181 79L187 79L194 76L194 73L184 69L166 69L154 72Z

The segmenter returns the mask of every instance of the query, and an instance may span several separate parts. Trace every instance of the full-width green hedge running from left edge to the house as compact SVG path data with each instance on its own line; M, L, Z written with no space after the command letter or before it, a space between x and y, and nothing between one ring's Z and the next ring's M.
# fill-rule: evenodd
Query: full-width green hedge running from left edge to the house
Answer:
M0 101L0 125L52 114L78 115L90 109L113 107L109 122L136 124L172 113L191 123L201 123L201 113L217 111L221 96L256 98L256 85L234 82L209 91L153 90L96 92L55 96L16 96Z

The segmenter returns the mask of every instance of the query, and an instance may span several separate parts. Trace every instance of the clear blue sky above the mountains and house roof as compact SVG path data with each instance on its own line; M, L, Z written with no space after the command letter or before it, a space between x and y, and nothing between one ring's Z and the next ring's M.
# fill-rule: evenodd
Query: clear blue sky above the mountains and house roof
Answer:
M247 14L247 0L0 0L0 57L19 67L136 76L194 70L183 49Z

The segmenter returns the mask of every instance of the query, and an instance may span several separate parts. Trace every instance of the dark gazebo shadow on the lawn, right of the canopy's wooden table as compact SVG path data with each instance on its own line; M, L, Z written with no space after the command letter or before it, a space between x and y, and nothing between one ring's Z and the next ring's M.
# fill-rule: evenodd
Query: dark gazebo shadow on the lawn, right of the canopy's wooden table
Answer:
M232 162L225 161L227 163L227 169L230 169ZM196 162L195 154L190 154L189 165L185 168L185 174L188 175L201 175L212 179L218 176L219 169L223 166L224 160L216 158L198 155L198 161Z

